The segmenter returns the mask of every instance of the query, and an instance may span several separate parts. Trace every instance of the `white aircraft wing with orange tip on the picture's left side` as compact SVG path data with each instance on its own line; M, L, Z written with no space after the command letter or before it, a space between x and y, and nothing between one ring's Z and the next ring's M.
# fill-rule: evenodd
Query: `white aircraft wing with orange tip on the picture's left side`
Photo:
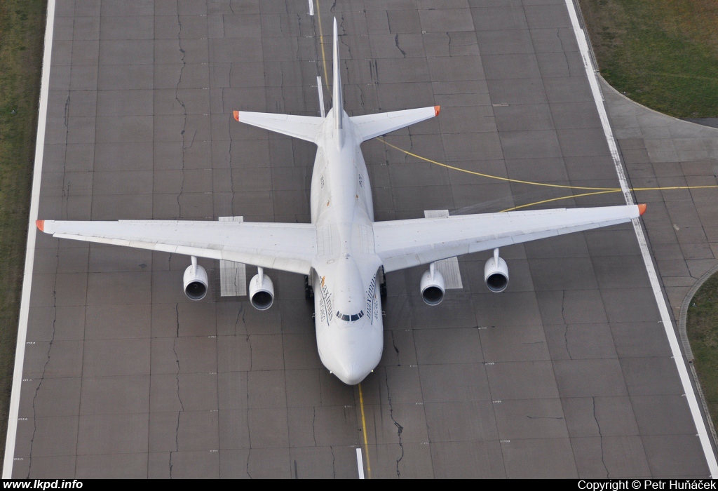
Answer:
M317 255L314 225L304 223L37 220L53 237L135 247L308 274Z

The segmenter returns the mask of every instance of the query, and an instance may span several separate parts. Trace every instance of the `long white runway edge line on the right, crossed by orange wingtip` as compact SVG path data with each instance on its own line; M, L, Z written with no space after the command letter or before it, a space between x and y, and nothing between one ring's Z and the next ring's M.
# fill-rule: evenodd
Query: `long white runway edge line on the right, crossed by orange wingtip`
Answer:
M620 154L616 141L613 137L613 131L608 121L608 114L606 108L603 105L603 97L601 94L600 87L598 85L598 79L596 73L593 70L593 65L589 55L588 41L586 34L581 29L576 14L576 9L572 0L565 0L567 9L569 10L569 17L571 17L571 24L574 28L574 34L576 34L576 40L579 44L579 50L581 51L581 57L584 60L584 67L586 69L586 75L588 77L589 85L591 85L591 92L596 102L596 108L601 118L601 125L603 126L603 132L606 136L608 147L613 157L613 163L618 174L618 180L623 190L623 196L625 197L628 205L633 205L633 196L630 194L628 188L628 181L623 172L623 166L621 165ZM635 230L636 238L638 238L638 245L640 246L640 253L643 256L643 263L645 264L645 270L648 272L648 279L651 281L651 289L653 289L653 296L656 297L656 304L658 304L658 312L661 313L661 322L663 329L666 331L666 337L668 337L668 344L671 346L671 353L673 354L673 362L676 363L679 377L681 378L681 384L683 390L686 393L686 400L688 401L689 408L691 409L691 415L693 421L696 424L696 431L703 447L703 453L708 463L708 468L711 473L711 477L714 479L718 477L718 462L716 462L716 456L713 453L711 442L708 437L706 430L706 424L701 416L701 411L698 406L696 399L696 393L693 390L693 384L688 375L688 369L686 368L686 362L683 355L681 354L681 346L679 345L678 337L676 336L676 330L673 329L673 322L671 322L671 315L668 313L668 306L666 300L663 299L663 292L661 291L661 284L658 283L658 274L656 268L653 267L653 260L651 259L651 251L648 250L648 243L645 240L643 229L640 228L640 219L635 218L633 220L633 230Z

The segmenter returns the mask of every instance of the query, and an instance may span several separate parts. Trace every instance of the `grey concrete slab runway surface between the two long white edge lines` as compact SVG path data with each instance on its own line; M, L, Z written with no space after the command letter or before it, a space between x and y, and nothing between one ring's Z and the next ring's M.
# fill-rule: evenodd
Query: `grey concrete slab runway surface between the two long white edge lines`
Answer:
M442 106L363 145L377 220L583 193L526 182L620 187L563 0L58 0L39 218L308 222L313 146L231 113L317 115L334 16L350 114ZM213 261L193 302L187 257L43 234L33 253L14 477L358 477L357 449L365 477L715 462L631 225L503 248L503 294L488 254L459 259L438 307L424 268L389 274L383 360L357 387L322 368L301 276L270 272L257 312L220 296Z

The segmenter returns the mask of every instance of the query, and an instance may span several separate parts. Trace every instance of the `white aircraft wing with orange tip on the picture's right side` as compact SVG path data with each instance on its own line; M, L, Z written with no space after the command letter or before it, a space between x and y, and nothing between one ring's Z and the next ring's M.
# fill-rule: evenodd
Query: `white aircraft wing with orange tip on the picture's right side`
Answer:
M374 223L384 271L419 266L564 233L629 222L645 205L456 215Z

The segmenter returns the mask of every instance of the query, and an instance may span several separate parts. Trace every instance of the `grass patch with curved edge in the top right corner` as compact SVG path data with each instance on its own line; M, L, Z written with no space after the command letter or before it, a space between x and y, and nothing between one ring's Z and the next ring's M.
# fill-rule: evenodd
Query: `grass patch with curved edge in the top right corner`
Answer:
M601 75L676 118L718 117L718 2L579 0Z

